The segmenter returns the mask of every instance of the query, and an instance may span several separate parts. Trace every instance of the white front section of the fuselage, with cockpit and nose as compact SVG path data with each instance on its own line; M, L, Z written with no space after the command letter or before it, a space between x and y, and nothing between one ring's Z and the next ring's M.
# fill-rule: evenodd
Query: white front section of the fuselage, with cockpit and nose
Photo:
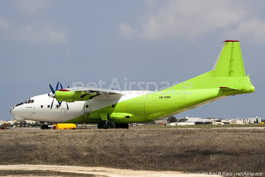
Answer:
M124 92L126 94L124 94ZM143 94L148 94L150 91L123 91L121 95L97 96L88 101L74 101L67 103L62 101L61 106L55 98L51 98L48 94L34 96L21 104L17 104L10 109L10 113L16 120L33 120L39 122L56 122L64 123L68 120L82 116L85 113L93 112L97 109L116 104ZM54 100L54 101L53 101ZM53 107L51 104L53 101Z

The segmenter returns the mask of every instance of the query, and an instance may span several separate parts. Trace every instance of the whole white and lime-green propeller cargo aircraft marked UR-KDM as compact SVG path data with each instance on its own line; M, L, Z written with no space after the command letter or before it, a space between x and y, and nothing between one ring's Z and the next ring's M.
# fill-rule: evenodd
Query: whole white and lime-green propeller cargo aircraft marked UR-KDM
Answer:
M226 40L211 71L162 91L115 91L72 87L34 96L10 109L16 120L97 123L128 128L128 123L170 117L230 95L255 91L246 76L239 41ZM61 84L60 84L61 85ZM141 94L139 94L141 93ZM56 99L56 100L54 100ZM43 124L42 129L48 126Z

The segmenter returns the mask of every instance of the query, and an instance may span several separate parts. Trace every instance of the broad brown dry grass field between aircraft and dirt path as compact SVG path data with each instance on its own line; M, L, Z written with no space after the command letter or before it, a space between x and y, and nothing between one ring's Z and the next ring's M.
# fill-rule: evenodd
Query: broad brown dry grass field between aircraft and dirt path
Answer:
M10 129L0 142L0 165L265 173L265 129Z

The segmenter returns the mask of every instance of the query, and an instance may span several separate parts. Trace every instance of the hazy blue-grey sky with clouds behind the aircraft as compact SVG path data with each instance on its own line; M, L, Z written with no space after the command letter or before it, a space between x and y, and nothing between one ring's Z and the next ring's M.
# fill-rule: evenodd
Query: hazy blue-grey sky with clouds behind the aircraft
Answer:
M264 10L264 1L0 1L0 118L58 80L102 79L108 89L117 78L122 90L125 81L185 81L210 71L229 39L241 41L255 93L183 117L264 119Z

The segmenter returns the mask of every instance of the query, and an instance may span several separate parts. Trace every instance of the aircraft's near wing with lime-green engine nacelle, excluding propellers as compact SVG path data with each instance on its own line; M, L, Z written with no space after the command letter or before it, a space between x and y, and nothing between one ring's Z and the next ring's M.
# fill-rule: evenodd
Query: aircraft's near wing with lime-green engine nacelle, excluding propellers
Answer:
M86 101L99 95L122 95L121 91L109 89L97 89L88 87L71 87L68 89L59 89L55 92L57 101Z

